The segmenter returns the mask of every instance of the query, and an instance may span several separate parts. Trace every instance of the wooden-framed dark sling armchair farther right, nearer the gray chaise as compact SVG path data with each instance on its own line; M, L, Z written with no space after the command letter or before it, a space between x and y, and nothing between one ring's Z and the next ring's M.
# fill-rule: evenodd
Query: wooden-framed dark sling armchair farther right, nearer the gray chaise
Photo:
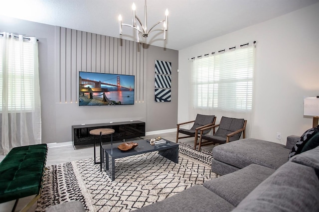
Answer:
M201 128L199 132L200 138L198 143L198 151L200 151L200 148L203 145L211 143L223 144L238 140L241 136L241 133L243 133L243 138L245 138L246 124L247 120L244 120L243 118L229 118L223 116L221 117L219 124ZM212 130L213 134L207 134L206 130ZM196 144L194 145L194 149L196 149Z

